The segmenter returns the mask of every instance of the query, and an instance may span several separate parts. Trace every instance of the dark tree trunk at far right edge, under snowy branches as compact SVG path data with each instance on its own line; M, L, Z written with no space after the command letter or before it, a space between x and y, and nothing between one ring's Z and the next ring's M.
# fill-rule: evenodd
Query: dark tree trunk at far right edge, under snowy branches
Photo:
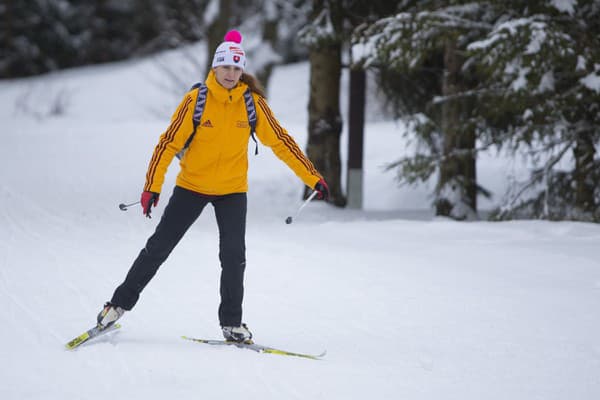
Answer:
M575 208L591 214L596 211L598 206L594 199L594 180L590 177L594 168L595 154L596 148L591 133L579 133L573 149L573 156L575 157L575 171L573 172Z

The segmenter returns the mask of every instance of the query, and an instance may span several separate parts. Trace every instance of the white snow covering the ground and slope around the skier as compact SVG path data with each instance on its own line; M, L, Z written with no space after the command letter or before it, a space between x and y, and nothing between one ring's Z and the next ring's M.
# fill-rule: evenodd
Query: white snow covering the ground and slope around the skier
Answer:
M187 54L161 57L175 67ZM180 338L220 335L210 207L123 328L66 351L158 222L117 207L139 198L168 124L156 110L180 100L156 60L0 82L0 398L600 396L600 226L432 218L431 188L398 188L383 171L407 147L403 125L384 120L366 127L364 210L311 203L286 225L301 184L264 146L250 156L244 319L257 342L327 349L324 360ZM300 63L277 68L269 94L302 146L307 87ZM345 159L346 131L342 139ZM480 158L494 193L507 173L506 161Z

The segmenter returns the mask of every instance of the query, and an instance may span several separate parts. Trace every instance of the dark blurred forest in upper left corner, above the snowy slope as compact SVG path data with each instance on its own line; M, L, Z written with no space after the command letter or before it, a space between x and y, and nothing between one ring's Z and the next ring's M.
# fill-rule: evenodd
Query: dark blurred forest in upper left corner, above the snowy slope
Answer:
M122 60L198 40L208 0L0 0L0 78Z

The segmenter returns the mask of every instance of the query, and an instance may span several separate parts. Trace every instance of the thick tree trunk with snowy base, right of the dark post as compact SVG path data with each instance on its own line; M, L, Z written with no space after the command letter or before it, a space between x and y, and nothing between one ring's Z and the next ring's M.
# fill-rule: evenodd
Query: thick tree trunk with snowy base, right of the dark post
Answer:
M468 105L452 96L464 92L462 57L454 39L448 39L444 51L442 93L443 158L437 187L436 215L458 220L477 218L477 180L475 133L465 123ZM448 99L449 97L449 99Z

